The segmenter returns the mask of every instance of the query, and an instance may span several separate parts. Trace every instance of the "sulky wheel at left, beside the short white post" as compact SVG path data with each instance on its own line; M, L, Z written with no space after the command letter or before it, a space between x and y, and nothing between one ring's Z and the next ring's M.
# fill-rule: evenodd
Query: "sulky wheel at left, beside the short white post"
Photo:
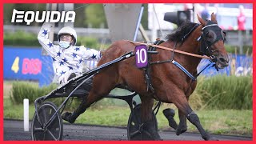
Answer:
M38 108L38 116L35 113L32 120L32 140L34 141L61 141L63 134L62 116L57 112L57 107L53 102L43 102ZM46 123L55 114L49 126ZM40 124L40 122L42 125Z

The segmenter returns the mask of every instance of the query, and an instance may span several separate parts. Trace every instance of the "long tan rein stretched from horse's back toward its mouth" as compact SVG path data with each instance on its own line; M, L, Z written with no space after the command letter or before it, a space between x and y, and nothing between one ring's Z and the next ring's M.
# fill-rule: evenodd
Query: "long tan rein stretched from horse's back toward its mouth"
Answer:
M171 48L168 48L168 47L165 47L165 46L158 46L158 45L153 45L153 44L143 43L143 42L134 42L134 41L130 41L130 40L126 40L126 41L132 42L132 43L141 44L141 45L154 46L154 47L158 47L159 49L174 51L174 52L176 52L176 53L186 54L186 55L190 55L190 56L192 56L192 57L210 59L210 57L208 57L208 56L206 56L206 55L191 54L191 53L188 53L188 52L186 52L186 51L174 50L174 49L171 49Z

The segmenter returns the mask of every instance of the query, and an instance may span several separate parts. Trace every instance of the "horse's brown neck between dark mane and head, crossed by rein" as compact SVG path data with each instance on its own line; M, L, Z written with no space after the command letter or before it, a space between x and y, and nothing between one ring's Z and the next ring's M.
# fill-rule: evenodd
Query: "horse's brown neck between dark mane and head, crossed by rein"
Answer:
M185 40L185 42L182 44L182 46L178 46L178 50L186 51L191 54L199 54L200 53L200 42L198 42L198 38L201 36L201 30L202 26L198 26L194 32L190 34L190 36ZM196 58L193 56L188 56L182 54L182 65L185 66L187 70L190 71L190 73L194 73L195 70L198 67L199 62L202 58Z

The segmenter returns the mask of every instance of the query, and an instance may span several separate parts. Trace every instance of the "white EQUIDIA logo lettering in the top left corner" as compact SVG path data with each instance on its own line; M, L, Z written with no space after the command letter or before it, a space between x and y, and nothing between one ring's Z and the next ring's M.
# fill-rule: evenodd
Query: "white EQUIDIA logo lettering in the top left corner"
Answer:
M26 25L30 25L31 22L74 22L74 11L42 11L42 16L39 18L39 11L18 11L13 10L11 22L26 22Z

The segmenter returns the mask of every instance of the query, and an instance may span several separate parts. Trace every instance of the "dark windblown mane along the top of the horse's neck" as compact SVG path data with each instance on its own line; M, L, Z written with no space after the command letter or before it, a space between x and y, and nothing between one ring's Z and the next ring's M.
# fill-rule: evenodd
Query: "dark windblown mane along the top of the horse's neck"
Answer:
M182 26L179 26L177 30L166 36L167 41L181 42L182 38L192 30L197 23L194 22L183 22Z

